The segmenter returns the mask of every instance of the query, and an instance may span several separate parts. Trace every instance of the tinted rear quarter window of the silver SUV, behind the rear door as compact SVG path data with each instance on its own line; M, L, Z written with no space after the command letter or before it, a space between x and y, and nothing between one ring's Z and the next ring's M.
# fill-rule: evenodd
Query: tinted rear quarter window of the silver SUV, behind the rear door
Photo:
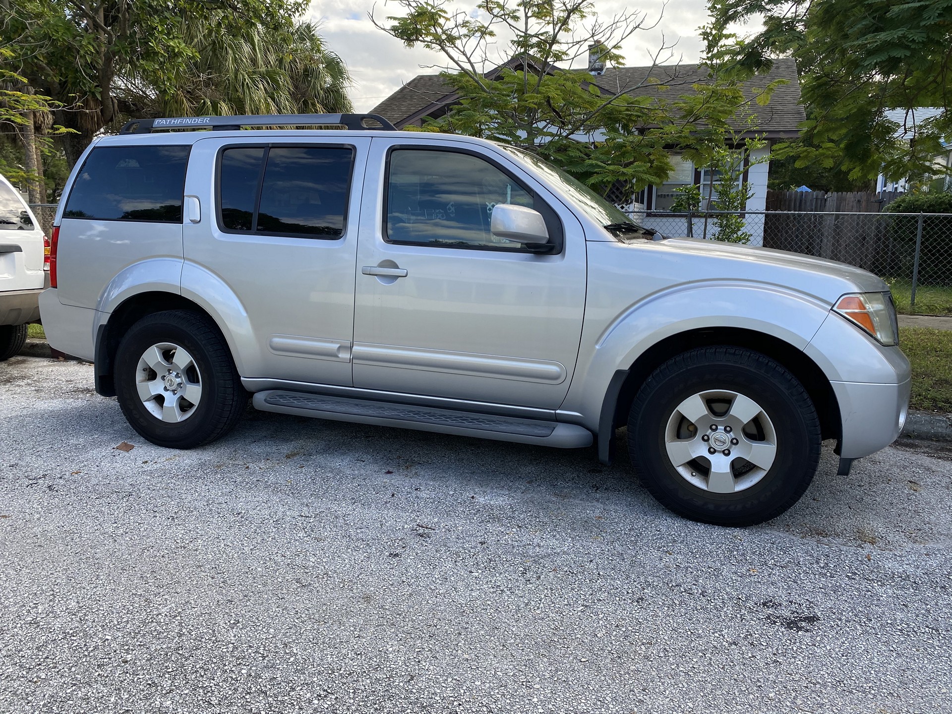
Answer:
M92 149L69 192L63 216L181 223L188 149Z

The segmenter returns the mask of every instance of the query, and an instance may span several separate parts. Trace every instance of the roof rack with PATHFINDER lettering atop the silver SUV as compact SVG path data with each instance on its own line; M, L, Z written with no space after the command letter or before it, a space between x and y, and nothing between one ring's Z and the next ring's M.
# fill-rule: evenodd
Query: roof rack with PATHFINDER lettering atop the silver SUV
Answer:
M367 120L379 127L368 127ZM126 122L120 134L150 134L163 129L237 130L242 127L321 127L344 126L351 131L381 129L396 131L384 117L377 114L249 114L248 116L178 116L168 119L133 119Z

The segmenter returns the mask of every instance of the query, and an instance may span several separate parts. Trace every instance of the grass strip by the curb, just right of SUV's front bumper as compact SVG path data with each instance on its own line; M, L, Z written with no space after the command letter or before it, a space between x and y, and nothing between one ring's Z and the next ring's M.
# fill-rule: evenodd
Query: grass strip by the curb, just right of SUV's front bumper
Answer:
M952 330L900 327L899 334L912 364L909 407L952 412Z

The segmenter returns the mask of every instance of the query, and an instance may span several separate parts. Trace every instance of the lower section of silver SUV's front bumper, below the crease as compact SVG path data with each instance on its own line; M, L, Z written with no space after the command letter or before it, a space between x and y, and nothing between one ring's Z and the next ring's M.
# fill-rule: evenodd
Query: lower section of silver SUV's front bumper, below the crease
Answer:
M912 383L908 379L898 385L830 384L843 420L841 458L862 459L896 441L909 407Z

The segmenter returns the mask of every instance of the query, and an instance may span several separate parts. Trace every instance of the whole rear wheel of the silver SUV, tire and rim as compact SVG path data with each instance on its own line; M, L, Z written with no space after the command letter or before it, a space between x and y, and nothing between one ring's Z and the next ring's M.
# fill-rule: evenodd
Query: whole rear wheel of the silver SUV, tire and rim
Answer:
M169 448L224 436L248 405L225 339L188 310L157 312L129 329L116 351L115 385L129 425Z

